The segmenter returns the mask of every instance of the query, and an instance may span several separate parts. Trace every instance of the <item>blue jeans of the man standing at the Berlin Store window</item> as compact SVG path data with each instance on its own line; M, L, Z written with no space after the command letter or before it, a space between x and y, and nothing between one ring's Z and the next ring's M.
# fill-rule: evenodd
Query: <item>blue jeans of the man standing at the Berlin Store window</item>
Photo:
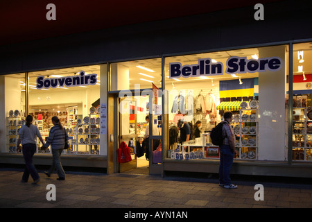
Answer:
M219 166L219 182L223 185L231 185L229 172L233 164L234 153L229 148L229 145L220 146L220 166Z

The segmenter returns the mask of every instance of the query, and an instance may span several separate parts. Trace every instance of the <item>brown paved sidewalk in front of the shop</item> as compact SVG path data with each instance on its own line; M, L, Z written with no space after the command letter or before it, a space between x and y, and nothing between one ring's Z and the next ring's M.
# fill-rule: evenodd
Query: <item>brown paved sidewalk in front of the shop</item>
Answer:
M21 181L22 172L0 170L1 208L259 208L312 207L312 185L265 184L264 200L254 200L261 182L239 182L224 189L216 179L194 179L135 174L67 173L66 180L48 178L32 185ZM46 200L53 184L56 200Z

